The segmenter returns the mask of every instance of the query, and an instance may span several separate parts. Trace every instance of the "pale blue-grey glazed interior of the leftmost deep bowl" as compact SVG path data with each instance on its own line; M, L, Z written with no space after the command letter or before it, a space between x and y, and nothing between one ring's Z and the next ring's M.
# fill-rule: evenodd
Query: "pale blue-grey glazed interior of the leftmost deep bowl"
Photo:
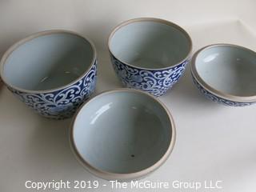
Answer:
M6 58L2 76L24 90L65 86L90 69L94 49L76 34L46 33L27 39Z

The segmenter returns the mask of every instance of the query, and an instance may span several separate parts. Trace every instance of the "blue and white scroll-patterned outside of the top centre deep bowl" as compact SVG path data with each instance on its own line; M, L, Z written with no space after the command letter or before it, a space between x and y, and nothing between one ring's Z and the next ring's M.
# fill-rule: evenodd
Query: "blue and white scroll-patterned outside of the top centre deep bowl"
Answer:
M115 72L122 83L130 88L146 91L154 96L166 94L184 73L188 59L166 70L141 70L118 61L111 55Z

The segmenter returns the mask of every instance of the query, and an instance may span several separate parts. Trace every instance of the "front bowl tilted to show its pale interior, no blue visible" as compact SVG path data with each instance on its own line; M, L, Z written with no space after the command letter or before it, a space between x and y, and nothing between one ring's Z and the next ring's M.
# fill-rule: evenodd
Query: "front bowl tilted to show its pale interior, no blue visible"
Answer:
M174 141L174 120L166 106L133 89L111 90L90 99L70 130L75 156L106 180L145 177L166 161Z

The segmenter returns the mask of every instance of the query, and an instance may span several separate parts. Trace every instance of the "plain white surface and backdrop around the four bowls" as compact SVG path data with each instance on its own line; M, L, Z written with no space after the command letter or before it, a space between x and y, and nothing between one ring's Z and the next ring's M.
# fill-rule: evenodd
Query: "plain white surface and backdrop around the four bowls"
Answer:
M229 3L215 1L218 2L218 6L214 2L207 4L199 0L194 1L198 4L182 1L176 2L177 5L174 1L166 0L162 3L149 1L147 6L145 6L146 1L108 2L76 0L61 3L61 1L47 0L21 1L15 4L13 0L2 1L0 2L0 23L2 23L0 53L19 38L24 38L27 34L38 30L53 28L77 30L96 44L99 60L96 93L100 93L121 86L110 64L106 38L113 26L128 18L153 16L178 22L190 33L194 42L194 51L216 42L230 42L256 50L256 27L252 19L253 16L256 18L256 14L254 14L253 1L227 1ZM220 3L226 9L219 8ZM184 5L187 5L184 10L178 12L177 9L182 9ZM86 6L90 6L90 9L84 13ZM170 6L170 9L168 10L166 6ZM195 10L190 10L192 6ZM118 10L121 7L122 11ZM202 7L206 8L202 9ZM199 12L200 14L197 14ZM98 21L98 25L92 24L90 20ZM86 30L82 30L83 27ZM202 97L191 81L190 66L187 67L182 79L160 100L174 116L177 142L166 163L142 181L169 182L171 185L173 181L220 180L222 189L202 188L197 191L256 190L256 105L228 107L208 101ZM56 121L42 118L14 98L6 87L2 87L0 90L1 192L38 191L26 189L25 182L61 179L70 182L98 180L100 185L107 186L94 190L59 191L196 191L174 189L172 186L170 190L112 189L109 182L88 173L74 158L68 142L70 121L71 119Z

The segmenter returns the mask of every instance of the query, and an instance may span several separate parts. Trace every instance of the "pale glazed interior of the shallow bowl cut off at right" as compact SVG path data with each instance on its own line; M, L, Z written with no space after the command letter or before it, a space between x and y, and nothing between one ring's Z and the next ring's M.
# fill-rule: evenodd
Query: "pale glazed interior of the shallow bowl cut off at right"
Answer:
M215 90L235 96L256 95L256 53L239 46L210 46L195 60L198 75Z

